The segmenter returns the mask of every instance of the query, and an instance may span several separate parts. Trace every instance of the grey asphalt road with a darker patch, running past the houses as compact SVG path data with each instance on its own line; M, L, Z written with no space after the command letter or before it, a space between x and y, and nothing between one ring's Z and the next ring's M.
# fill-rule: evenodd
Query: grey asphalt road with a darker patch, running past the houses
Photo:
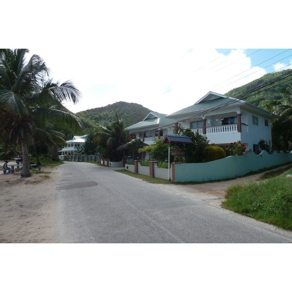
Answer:
M56 187L62 243L291 243L292 232L94 164L66 162ZM196 186L194 185L194 189ZM190 199L191 198L191 199Z

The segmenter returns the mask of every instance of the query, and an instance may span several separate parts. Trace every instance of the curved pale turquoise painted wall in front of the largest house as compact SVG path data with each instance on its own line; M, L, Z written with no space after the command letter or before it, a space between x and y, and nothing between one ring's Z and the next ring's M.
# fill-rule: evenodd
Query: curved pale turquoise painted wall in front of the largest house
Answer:
M204 182L235 178L251 171L292 162L290 153L262 151L260 155L250 152L243 156L229 156L207 163L175 164L176 182Z

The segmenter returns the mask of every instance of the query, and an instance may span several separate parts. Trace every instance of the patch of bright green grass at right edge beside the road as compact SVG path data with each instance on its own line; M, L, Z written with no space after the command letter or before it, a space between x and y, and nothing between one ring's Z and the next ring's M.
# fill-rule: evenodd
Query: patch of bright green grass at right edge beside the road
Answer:
M286 174L292 174L291 166L289 169L276 177L277 172L271 171L265 177L274 177L264 181L229 187L222 207L292 230L292 179L286 177Z

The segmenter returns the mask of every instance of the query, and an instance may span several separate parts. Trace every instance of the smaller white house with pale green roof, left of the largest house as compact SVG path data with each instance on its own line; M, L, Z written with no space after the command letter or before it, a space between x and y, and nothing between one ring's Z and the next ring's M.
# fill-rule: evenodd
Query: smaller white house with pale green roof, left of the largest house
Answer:
M173 134L174 121L165 117L166 114L150 111L143 121L127 128L129 135L151 145L155 138L164 138L166 134Z

